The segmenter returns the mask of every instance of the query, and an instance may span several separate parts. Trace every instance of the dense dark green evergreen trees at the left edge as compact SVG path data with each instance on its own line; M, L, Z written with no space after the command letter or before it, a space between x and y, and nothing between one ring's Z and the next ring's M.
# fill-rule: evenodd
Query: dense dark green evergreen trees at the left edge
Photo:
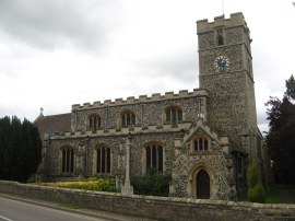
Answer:
M0 118L0 178L26 182L40 162L38 129L17 117Z

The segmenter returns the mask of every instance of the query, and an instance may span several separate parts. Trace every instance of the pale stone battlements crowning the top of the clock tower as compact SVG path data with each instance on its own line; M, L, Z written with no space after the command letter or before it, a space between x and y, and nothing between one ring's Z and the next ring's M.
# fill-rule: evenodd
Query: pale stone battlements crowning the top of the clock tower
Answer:
M208 19L197 21L197 33L212 32L214 28L220 26L225 26L227 28L245 26L245 28L248 28L244 14L241 12L237 12L232 13L229 19L225 19L224 15L221 15L215 16L214 22L208 22Z

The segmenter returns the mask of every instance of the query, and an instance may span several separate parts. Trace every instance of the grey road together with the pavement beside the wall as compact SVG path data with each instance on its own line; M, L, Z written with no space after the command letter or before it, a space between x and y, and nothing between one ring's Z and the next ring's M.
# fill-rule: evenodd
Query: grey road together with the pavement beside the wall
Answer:
M55 202L0 194L0 221L154 221L133 216L87 210L69 209Z

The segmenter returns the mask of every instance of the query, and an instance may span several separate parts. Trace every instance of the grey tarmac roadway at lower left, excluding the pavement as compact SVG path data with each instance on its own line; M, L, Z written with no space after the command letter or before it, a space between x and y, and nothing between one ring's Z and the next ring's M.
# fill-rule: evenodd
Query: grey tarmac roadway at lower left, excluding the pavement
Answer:
M98 219L0 197L0 221L84 221Z

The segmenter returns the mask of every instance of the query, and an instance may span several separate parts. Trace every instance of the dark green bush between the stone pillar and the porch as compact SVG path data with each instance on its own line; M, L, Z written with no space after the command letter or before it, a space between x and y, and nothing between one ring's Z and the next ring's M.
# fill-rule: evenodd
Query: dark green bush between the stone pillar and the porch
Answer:
M131 177L131 184L137 195L163 196L169 194L170 176L151 171L144 176Z

